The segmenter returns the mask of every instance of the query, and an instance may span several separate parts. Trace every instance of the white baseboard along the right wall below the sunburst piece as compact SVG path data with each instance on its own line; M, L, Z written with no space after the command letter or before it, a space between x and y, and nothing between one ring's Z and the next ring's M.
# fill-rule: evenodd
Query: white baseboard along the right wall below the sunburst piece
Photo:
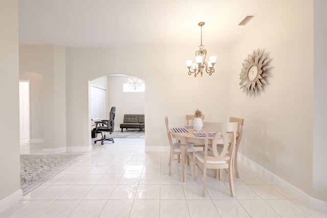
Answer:
M327 202L311 197L307 193L303 192L302 190L298 189L297 187L293 186L282 178L276 176L275 174L271 173L264 167L253 162L252 160L248 159L240 153L238 153L238 161L241 164L245 165L247 168L254 169L255 172L259 172L261 175L263 175L264 179L272 181L274 184L278 185L284 190L287 190L287 192L291 196L305 204L307 207L323 213L327 213Z

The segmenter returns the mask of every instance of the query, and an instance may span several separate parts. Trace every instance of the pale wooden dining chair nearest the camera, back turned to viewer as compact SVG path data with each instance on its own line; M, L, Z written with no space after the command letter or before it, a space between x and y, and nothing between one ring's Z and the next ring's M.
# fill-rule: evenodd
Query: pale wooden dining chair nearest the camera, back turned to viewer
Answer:
M205 182L207 169L214 169L214 177L217 178L217 170L225 169L228 174L229 190L230 195L234 197L233 188L233 157L235 155L236 147L236 133L237 133L238 123L204 123L205 131L205 146L204 151L194 152L194 180L197 180L198 169L202 171L203 168L203 186L202 186L202 196L205 196ZM227 133L231 132L231 133ZM214 139L210 144L212 145L212 150L208 150L208 133L216 133ZM231 142L229 143L229 137L231 136ZM222 136L222 137L221 137ZM223 143L223 148L221 151L217 150L217 145ZM230 144L230 145L229 145ZM228 151L229 150L229 151Z

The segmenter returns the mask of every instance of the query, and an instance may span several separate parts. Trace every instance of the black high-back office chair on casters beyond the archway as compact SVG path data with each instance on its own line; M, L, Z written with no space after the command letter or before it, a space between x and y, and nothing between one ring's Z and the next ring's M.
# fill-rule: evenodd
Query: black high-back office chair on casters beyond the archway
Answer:
M109 132L110 134L113 132L115 113L116 113L116 107L111 107L109 120L102 119L101 121L95 122L97 126L96 128L93 129L93 132L101 133L101 139L95 140L94 141L95 144L97 143L97 141L101 141L101 144L103 144L104 141L112 141L112 143L114 143L112 137L107 138L105 134L102 134L102 132Z

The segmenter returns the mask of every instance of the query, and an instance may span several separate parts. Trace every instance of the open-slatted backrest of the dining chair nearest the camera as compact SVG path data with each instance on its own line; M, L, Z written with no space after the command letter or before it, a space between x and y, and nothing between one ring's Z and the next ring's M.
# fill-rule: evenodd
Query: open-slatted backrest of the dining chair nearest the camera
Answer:
M205 147L204 147L204 157L205 162L209 160L230 160L233 158L235 145L236 145L236 133L237 133L238 123L204 123L204 131L205 131ZM212 152L213 156L208 156L208 137L209 133L216 133L214 139L212 140ZM231 146L229 148L229 136L228 134L232 134L231 137ZM222 137L222 138L221 138ZM223 142L222 142L223 141ZM223 144L223 149L217 149L217 145Z

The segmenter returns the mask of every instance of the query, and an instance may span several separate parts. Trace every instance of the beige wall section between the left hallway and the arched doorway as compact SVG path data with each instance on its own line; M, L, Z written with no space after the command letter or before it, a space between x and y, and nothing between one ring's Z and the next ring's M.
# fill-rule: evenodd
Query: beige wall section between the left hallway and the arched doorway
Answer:
M43 148L49 153L63 152L66 148L65 61L63 46L19 45L19 71L43 76L43 111L40 115L43 117Z

